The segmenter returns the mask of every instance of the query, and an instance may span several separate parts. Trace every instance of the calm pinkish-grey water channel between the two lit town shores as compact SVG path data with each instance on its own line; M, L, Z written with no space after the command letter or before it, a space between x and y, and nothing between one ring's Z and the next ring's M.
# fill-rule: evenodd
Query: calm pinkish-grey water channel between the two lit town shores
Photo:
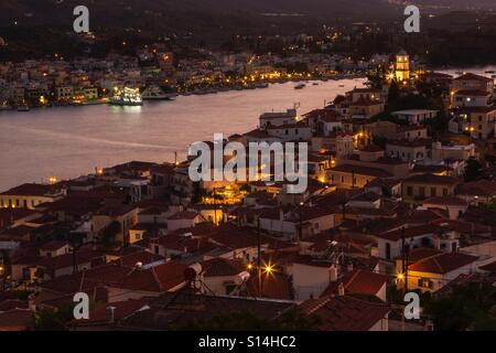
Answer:
M190 143L257 127L263 111L300 103L300 114L324 106L363 79L330 81L296 90L294 83L266 89L179 97L143 107L58 107L0 111L0 191L48 176L76 178L95 167L130 160L173 161Z

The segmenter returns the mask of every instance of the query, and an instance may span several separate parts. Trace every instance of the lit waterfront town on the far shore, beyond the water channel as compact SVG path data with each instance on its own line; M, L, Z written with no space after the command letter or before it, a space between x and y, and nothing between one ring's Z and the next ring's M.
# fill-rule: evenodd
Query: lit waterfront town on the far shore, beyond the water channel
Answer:
M289 45L290 55L252 51L192 50L187 55L163 43L137 50L136 55L66 60L63 54L23 62L0 63L0 109L107 104L117 89L137 89L143 99L174 99L177 95L206 95L226 90L267 88L271 83L363 77L388 62L387 55L352 60L346 54L309 53Z

